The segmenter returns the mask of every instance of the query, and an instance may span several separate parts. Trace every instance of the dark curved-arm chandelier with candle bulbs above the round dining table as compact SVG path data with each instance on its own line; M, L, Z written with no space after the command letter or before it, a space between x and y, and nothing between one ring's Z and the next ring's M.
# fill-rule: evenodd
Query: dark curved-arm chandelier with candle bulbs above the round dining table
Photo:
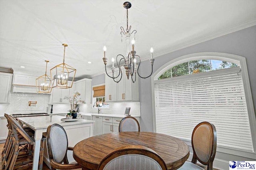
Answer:
M146 77L142 77L140 76L139 72L138 72L138 69L140 67L140 56L136 55L136 51L134 51L134 44L135 44L135 34L137 33L136 30L131 30L131 25L130 27L128 26L128 9L131 8L132 4L130 2L124 2L123 4L124 8L126 8L126 30L124 30L123 27L120 27L121 29L121 42L122 42L122 39L123 39L123 36L125 38L125 41L126 41L126 55L125 57L121 54L117 55L116 56L116 63L117 63L117 66L118 66L118 70L119 70L119 73L118 73L118 76L114 76L114 71L115 71L115 67L114 67L114 58L112 58L112 67L111 67L111 70L112 70L112 76L108 75L108 72L107 72L107 68L106 68L106 64L108 63L108 58L106 58L106 46L104 46L103 50L104 50L104 57L102 58L103 59L103 62L105 64L105 71L106 71L106 74L112 78L114 80L114 82L120 82L121 78L122 78L122 70L121 70L121 61L124 60L124 69L126 70L126 76L127 78L129 79L129 77L131 76L132 78L132 82L134 83L136 81L136 74L138 74L138 76L140 78L148 78L152 75L153 73L153 64L154 64L154 60L153 59L153 48L151 47L150 49L150 53L151 53L151 59L149 59L150 61L150 64L152 66L151 68L151 74L149 76L146 76ZM133 36L133 39L132 39L132 36ZM130 43L132 43L132 51L130 51ZM118 57L121 58L119 61L118 61ZM136 59L137 57L137 59ZM138 62L138 65L137 65L137 60L139 61ZM120 78L119 78L120 77ZM116 79L116 80L115 80Z

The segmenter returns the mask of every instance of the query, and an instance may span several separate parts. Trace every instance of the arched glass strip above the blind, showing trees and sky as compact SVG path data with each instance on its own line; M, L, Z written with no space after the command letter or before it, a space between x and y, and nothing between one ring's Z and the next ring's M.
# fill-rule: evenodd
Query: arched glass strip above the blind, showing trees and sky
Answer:
M186 63L178 64L164 72L158 80L164 78L171 78L176 76L184 76L188 74L196 74L199 72L208 72L212 70L220 70L223 68L231 68L236 67L237 64L230 63L227 61L220 61L220 60L194 60L188 61Z

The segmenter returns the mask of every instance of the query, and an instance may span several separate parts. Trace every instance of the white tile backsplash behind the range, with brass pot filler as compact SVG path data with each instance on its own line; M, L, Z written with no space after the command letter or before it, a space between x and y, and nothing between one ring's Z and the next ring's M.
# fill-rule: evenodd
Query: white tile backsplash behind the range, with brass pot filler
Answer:
M0 104L0 115L4 113L43 113L47 111L49 94L11 93L9 104ZM28 106L28 102L37 102Z

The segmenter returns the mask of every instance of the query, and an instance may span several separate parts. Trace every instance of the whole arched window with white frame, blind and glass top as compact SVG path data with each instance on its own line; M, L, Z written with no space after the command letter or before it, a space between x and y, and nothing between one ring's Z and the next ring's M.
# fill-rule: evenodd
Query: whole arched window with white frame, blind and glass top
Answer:
M152 105L154 132L190 141L194 127L208 121L216 126L218 149L255 150L244 57L195 53L164 64L152 75Z

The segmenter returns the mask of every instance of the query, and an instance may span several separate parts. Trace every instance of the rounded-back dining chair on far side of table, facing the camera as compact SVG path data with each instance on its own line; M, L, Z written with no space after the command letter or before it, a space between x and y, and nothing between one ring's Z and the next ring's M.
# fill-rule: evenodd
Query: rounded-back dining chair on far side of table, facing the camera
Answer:
M119 123L119 132L139 132L140 124L132 116L124 117Z

